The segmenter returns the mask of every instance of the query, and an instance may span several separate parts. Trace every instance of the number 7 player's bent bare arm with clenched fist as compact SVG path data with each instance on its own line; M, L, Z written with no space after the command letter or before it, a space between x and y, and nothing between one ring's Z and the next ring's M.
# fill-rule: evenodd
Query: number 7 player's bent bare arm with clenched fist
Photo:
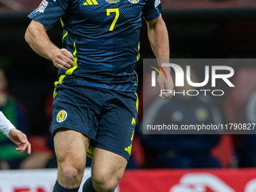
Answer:
M26 29L26 42L38 55L53 61L53 65L59 69L69 69L74 66L74 56L69 50L59 49L50 41L47 29L35 20L32 20Z

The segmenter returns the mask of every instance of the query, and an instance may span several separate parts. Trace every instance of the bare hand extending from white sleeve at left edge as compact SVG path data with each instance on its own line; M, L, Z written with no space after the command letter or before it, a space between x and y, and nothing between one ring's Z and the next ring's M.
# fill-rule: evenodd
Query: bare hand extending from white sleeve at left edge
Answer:
M12 142L18 145L16 151L20 151L20 153L22 153L27 149L27 153L31 154L31 145L28 139L26 138L26 135L22 133L20 130L11 129L9 133L9 139L11 139Z

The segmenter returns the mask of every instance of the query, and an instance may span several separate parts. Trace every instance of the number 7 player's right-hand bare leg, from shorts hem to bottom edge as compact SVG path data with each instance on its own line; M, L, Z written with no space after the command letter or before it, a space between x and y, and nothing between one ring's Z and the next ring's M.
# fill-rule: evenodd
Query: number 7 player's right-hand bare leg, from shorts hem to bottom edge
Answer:
M92 181L97 192L112 192L126 168L126 158L101 148L93 150ZM85 192L85 191L84 191Z

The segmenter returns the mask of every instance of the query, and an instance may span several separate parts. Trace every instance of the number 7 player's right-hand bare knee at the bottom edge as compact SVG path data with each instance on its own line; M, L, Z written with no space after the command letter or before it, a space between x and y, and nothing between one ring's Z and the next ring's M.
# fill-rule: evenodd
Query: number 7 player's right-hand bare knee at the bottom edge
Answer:
M99 192L112 192L120 181L119 177L98 176L93 177L93 187Z

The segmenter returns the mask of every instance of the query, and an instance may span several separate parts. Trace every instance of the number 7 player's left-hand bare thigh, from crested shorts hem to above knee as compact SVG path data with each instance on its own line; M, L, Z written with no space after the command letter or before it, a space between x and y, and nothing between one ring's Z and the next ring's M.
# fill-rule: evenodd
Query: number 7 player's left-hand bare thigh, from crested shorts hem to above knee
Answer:
M90 144L88 136L75 130L59 128L55 131L53 139L59 165L85 166L87 148Z

